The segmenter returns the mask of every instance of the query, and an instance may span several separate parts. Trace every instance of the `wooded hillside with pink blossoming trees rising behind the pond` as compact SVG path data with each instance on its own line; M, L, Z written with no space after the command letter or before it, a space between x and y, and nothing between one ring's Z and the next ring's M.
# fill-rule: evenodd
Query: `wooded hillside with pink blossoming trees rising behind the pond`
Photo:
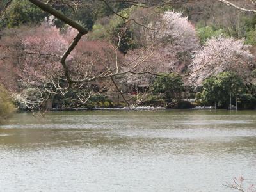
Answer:
M28 0L0 3L0 81L22 107L116 106L113 95L131 106L256 106L255 13L214 0L48 3L86 35Z

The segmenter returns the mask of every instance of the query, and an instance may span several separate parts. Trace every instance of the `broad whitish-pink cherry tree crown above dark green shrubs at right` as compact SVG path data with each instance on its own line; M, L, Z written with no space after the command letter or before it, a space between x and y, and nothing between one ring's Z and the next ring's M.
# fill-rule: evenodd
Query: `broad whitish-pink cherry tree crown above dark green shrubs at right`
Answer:
M199 85L212 74L223 71L234 71L241 76L246 75L252 67L253 55L244 40L213 37L205 43L204 47L195 52L193 63L190 65L190 83Z

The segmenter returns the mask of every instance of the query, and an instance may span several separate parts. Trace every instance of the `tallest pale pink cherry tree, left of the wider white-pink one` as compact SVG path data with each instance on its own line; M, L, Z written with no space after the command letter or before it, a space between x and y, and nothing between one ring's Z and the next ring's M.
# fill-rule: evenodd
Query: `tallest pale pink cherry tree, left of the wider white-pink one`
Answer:
M150 23L147 40L158 44L154 58L161 58L155 72L182 72L191 55L199 48L195 27L182 12L164 12L155 24Z

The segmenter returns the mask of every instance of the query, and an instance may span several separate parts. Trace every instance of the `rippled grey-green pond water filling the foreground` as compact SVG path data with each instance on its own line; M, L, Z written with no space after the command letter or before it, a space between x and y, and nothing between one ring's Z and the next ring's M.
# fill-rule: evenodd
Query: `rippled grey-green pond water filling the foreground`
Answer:
M233 191L256 184L256 111L19 113L0 125L0 191Z

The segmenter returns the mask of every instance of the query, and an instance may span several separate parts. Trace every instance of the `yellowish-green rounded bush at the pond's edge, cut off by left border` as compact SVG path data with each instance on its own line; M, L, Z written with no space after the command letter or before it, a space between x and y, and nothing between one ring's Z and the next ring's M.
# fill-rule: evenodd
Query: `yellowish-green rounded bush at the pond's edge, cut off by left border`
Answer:
M15 106L10 99L10 94L0 85L0 120L9 118L15 110Z

